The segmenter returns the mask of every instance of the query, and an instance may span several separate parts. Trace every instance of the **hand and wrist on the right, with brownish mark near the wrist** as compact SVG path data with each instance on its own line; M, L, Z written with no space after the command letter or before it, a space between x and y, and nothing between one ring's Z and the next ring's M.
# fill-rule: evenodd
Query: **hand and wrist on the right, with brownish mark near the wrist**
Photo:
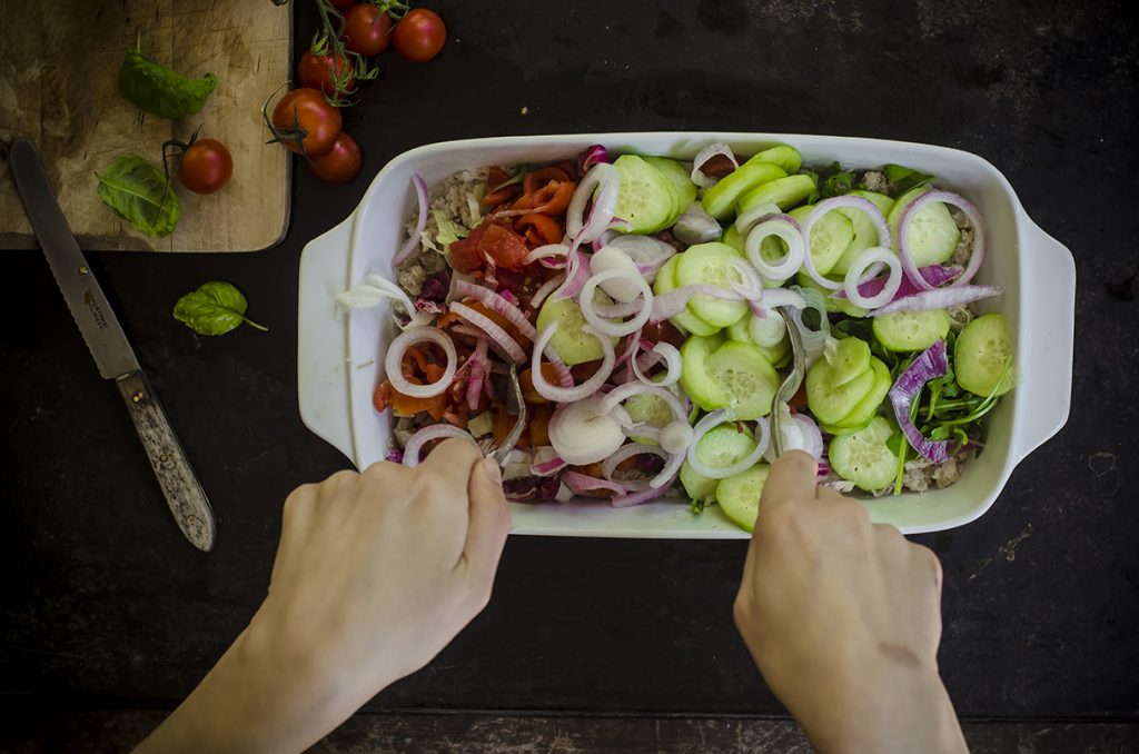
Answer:
M965 751L937 674L941 565L794 451L771 468L735 617L823 751Z

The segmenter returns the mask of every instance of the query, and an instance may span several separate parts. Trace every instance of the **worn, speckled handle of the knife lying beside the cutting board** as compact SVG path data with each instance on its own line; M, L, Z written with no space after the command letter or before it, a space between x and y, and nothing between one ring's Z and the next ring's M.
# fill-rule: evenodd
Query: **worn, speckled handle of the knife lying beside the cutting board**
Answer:
M141 371L132 371L115 382L126 401L131 420L146 448L155 476L158 477L170 513L174 515L186 539L194 547L208 552L215 533L213 510L182 445L174 436L158 398Z

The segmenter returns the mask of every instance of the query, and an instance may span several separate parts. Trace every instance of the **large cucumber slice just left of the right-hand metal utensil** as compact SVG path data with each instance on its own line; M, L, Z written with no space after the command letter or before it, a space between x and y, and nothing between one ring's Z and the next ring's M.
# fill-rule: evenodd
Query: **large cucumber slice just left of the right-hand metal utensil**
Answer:
M727 409L737 419L757 419L771 412L779 374L754 345L722 336L688 338L680 347L683 360L680 386L705 411Z

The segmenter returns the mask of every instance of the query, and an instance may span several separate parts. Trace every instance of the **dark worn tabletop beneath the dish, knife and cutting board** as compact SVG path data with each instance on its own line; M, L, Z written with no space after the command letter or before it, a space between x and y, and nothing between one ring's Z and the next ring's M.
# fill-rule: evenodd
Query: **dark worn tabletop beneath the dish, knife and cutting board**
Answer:
M308 0L297 5L300 50L314 14ZM280 246L89 255L213 500L210 555L171 521L42 256L3 254L0 747L128 745L253 614L285 495L347 466L297 416L298 256L388 158L466 137L656 129L958 147L993 162L1029 214L1071 247L1079 289L1067 427L1019 466L984 518L916 540L944 564L950 694L961 715L992 721L970 729L978 751L1026 740L1036 751L1139 747L1139 28L1125 3L436 7L450 28L445 51L429 65L383 58L382 80L346 116L363 175L334 188L297 170ZM210 338L175 322L174 301L211 279L238 285L270 331ZM514 538L486 612L429 667L374 699L367 710L387 714L354 721L339 733L342 751L446 749L440 731L456 746L491 740L483 722L498 726L500 743L562 730L587 749L605 748L589 732L605 730L609 741L664 749L801 745L785 722L765 720L785 713L732 628L744 550ZM154 712L131 712L140 708ZM567 713L590 716L524 716ZM621 715L641 720L614 727ZM646 718L655 732L642 730ZM691 738L697 729L702 739ZM775 737L756 738L764 730Z

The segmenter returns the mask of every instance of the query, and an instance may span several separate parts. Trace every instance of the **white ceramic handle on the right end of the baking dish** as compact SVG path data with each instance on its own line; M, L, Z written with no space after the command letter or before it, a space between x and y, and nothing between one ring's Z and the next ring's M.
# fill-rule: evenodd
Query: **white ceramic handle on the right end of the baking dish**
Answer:
M1059 432L1072 402L1072 346L1075 334L1075 262L1066 246L1030 221L1033 278L1022 288L1025 303L1021 370L1027 395L1016 450L1024 458ZM1018 388L1019 390L1019 388Z

